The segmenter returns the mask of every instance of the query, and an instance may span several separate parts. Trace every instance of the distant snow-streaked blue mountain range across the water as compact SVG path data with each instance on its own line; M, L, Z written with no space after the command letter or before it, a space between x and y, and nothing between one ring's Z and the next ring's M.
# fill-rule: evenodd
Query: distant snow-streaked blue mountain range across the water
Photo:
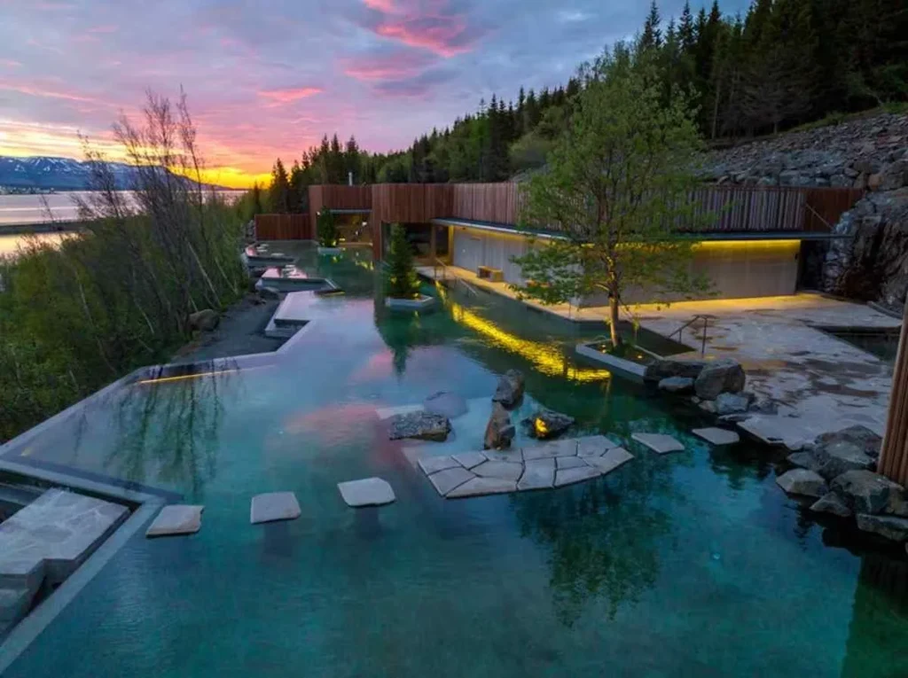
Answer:
M125 191L133 187L133 165L124 162L107 164L114 172L117 188ZM90 178L89 162L48 156L12 158L0 155L0 189L87 191L90 188Z

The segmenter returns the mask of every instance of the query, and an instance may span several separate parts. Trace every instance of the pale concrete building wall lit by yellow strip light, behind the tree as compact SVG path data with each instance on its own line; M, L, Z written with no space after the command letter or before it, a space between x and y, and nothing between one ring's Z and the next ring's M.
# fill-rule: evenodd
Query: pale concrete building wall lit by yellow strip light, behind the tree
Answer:
M510 261L528 251L528 241L518 235L453 228L452 263L476 271L480 265L504 271L507 282L522 282L520 268ZM694 269L712 280L707 299L743 299L794 294L797 288L800 241L709 241L696 247ZM653 301L640 291L628 301ZM661 298L669 301L671 299ZM607 297L587 298L584 306L600 306Z

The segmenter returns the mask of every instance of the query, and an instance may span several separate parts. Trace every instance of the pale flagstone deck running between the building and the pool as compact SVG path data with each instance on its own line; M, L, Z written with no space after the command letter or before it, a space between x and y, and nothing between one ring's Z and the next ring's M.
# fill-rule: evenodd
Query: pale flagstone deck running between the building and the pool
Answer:
M447 272L469 285L509 299L517 295L506 283L482 280L469 270ZM422 267L429 279L436 270ZM599 322L607 308L577 309L568 304L532 308L574 322ZM696 314L709 314L706 359L738 360L747 372L747 389L772 398L777 415L755 415L739 427L767 442L797 449L821 433L863 424L882 435L892 390L892 368L872 354L837 339L821 328L897 329L895 319L864 304L799 293L786 297L641 304L633 312L643 328L668 337ZM626 316L629 317L629 316ZM699 359L702 325L684 330L682 341L696 350L676 356Z

